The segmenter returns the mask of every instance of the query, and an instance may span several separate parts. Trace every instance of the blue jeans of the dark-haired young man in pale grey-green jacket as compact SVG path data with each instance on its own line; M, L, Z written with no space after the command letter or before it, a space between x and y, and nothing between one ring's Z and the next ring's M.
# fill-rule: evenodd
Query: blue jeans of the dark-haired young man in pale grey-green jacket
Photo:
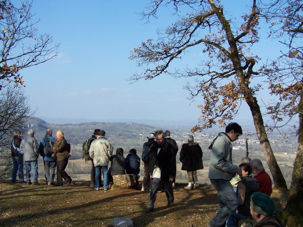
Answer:
M239 206L239 200L228 180L210 179L210 182L217 189L220 207L218 213L208 223L211 226L222 226Z

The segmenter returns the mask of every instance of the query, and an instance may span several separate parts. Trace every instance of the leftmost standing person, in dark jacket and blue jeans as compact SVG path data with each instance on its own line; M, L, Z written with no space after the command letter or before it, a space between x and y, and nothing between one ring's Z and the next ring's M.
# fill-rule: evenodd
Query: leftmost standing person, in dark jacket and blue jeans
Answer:
M12 182L15 183L17 179L17 171L19 183L25 183L23 173L23 154L20 151L21 144L21 132L15 131L13 134L13 141L11 146L12 159L13 159L13 171L12 171Z

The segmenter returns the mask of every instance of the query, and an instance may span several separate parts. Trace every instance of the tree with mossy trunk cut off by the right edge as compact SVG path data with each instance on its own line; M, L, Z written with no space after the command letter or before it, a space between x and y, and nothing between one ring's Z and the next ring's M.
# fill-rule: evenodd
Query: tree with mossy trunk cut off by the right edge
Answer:
M278 101L268 105L268 114L274 120L274 127L282 120L290 122L299 118L298 149L292 172L289 198L283 219L288 226L302 226L303 217L303 3L298 0L274 0L265 5L265 18L271 23L271 35L288 47L276 61L264 66L263 73L270 79L271 94ZM282 123L282 124L285 124Z

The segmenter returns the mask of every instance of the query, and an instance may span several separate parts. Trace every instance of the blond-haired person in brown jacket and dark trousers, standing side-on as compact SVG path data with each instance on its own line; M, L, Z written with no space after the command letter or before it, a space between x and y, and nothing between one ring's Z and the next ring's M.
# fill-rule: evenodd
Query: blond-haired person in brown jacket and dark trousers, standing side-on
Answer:
M64 133L61 130L58 130L56 133L57 140L53 145L53 153L56 155L57 165L57 184L54 186L63 186L62 178L67 182L66 186L72 183L72 178L65 172L65 167L67 166L70 154L68 153L67 141L63 136Z

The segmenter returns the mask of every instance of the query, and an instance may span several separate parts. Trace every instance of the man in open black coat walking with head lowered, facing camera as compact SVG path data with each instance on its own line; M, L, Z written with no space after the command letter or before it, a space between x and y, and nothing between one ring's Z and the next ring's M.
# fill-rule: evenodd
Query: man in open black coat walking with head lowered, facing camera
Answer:
M167 206L174 205L172 182L176 178L176 156L174 147L165 140L163 131L156 131L156 143L149 152L150 176L154 179L148 199L146 212L152 212L161 181L165 187ZM161 181L160 181L161 180Z

